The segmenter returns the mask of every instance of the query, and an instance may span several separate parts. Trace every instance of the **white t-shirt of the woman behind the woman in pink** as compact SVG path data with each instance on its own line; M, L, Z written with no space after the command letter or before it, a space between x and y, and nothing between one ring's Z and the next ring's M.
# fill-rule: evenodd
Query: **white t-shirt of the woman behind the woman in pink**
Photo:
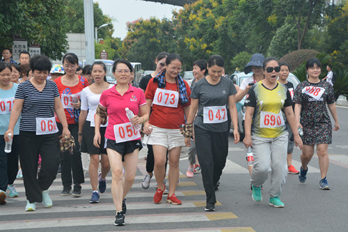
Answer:
M109 85L111 88L113 84ZM81 91L81 110L88 110L86 121L94 122L94 115L99 105L100 94L95 94L90 91L89 86Z

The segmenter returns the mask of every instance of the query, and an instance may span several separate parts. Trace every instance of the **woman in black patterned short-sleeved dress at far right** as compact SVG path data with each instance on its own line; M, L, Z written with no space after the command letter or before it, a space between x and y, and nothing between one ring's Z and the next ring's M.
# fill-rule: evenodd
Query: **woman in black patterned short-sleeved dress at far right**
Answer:
M326 180L329 169L329 155L327 153L329 144L332 143L332 125L326 105L335 121L333 130L338 131L338 116L335 105L333 87L329 82L319 79L322 73L322 64L316 58L309 59L306 63L308 79L301 82L294 94L295 118L298 127L303 128L303 150L299 181L306 182L308 163L313 157L314 147L317 145L319 158L319 169L321 178L319 187L322 190L330 190L331 186Z

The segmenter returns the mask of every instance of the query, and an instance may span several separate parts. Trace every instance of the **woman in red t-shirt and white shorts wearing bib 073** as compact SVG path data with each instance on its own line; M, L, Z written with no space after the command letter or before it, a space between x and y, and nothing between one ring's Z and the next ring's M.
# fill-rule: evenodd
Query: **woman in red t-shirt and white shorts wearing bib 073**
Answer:
M170 54L166 59L165 69L155 78L150 79L145 91L148 111L152 105L150 122L145 123L144 133L151 134L148 144L152 145L155 156L155 178L157 191L154 196L155 203L161 203L166 187L164 176L166 174L166 153L168 150L169 161L169 192L166 202L181 205L175 196L175 188L179 179L179 160L184 138L180 134L180 125L184 125L185 117L189 116L191 90L180 72L182 59L178 54ZM150 130L150 125L152 130Z

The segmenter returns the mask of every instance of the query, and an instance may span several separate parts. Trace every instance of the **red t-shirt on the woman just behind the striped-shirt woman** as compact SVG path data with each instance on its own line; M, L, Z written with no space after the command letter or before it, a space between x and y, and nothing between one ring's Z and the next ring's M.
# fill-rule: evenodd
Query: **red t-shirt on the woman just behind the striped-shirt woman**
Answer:
M66 120L68 121L68 124L74 124L74 108L71 105L72 94L74 94L81 100L81 91L83 88L89 86L88 80L82 76L79 76L79 84L77 84L76 86L65 86L62 84L61 78L62 77L58 77L54 80L54 82L56 82L59 94L61 95L61 101L65 111ZM56 121L60 123L57 116Z

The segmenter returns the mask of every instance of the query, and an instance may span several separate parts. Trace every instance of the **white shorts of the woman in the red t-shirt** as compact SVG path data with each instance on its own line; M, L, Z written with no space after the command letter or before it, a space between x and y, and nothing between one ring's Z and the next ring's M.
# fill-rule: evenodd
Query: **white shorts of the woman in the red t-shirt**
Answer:
M184 136L180 133L180 129L164 129L155 125L152 125L152 132L148 144L161 145L168 150L179 146L185 146Z

